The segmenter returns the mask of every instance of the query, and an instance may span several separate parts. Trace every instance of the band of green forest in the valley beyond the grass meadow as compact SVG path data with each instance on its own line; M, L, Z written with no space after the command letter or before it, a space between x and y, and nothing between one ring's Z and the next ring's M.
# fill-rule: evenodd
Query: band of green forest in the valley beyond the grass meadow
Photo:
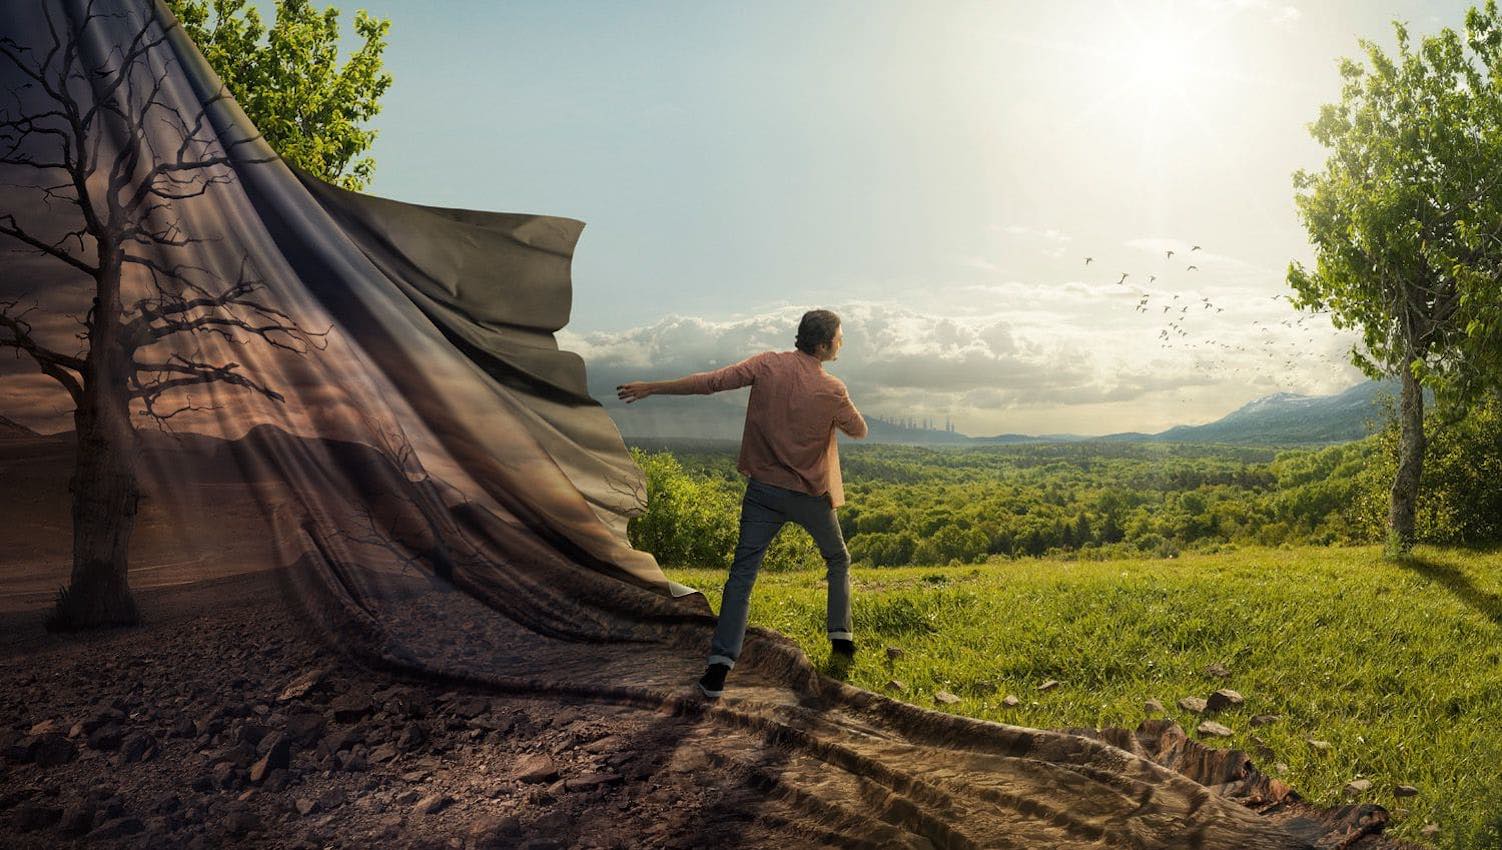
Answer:
M1431 416L1418 539L1502 541L1502 411ZM1382 542L1397 425L1320 449L1072 443L841 452L840 524L865 566L985 563L1018 557L1178 557L1262 545ZM728 452L646 455L649 508L632 544L670 565L728 565L745 479ZM891 470L901 469L900 481ZM877 479L855 470L874 472ZM637 544L637 541L643 541ZM650 542L647 542L650 541ZM807 533L784 527L766 565L816 568Z

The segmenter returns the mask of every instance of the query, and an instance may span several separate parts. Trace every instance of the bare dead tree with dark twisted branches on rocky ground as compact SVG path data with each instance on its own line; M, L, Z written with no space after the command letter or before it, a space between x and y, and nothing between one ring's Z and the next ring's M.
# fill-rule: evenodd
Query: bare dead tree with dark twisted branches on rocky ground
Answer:
M138 619L126 580L140 499L132 410L167 427L180 413L213 407L188 395L209 383L282 401L239 362L204 353L209 335L305 353L321 348L327 333L303 330L269 303L249 258L234 279L194 260L209 239L189 233L174 204L233 182L234 149L258 137L225 141L212 131L209 110L230 96L222 87L191 108L170 102L164 89L176 60L167 39L177 23L147 6L137 29L125 15L96 14L93 3L66 17L42 5L44 44L0 38L0 71L17 81L0 92L8 101L0 168L32 174L26 189L36 200L0 215L0 236L60 264L41 285L68 285L71 276L93 296L77 317L74 353L35 332L29 315L39 303L0 302L0 347L27 354L74 402L72 575L53 629ZM129 38L99 38L93 27ZM47 224L57 207L71 219L60 234ZM27 212L38 221L18 219Z

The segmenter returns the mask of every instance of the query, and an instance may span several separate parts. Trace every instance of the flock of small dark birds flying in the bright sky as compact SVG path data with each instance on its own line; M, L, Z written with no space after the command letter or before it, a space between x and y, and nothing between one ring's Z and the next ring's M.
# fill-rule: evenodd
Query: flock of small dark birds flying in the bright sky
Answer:
M1199 245L1190 248L1191 254L1196 251L1200 251ZM1175 251L1166 249L1164 261L1166 263L1172 261L1173 255ZM1084 258L1086 266L1089 266L1093 261L1095 261L1093 257ZM1199 266L1190 263L1184 267L1184 270L1197 272ZM1313 324L1305 326L1305 321L1308 321L1313 315L1326 314L1329 311L1305 311L1305 314L1299 315L1298 318L1283 318L1281 321L1272 321L1271 318L1269 320L1257 318L1251 321L1251 327L1257 329L1259 341L1223 342L1211 336L1194 333L1191 326L1199 317L1217 315L1226 312L1226 306L1218 305L1205 296L1200 296L1199 302L1194 302L1193 300L1194 296L1184 296L1181 293L1163 291L1161 288L1154 287L1154 284L1158 281L1158 275L1148 275L1148 287L1152 287L1151 290L1149 288L1137 290L1128 287L1126 281L1130 278L1131 273L1122 272L1120 278L1116 279L1116 285L1133 291L1134 297L1137 299L1137 303L1133 308L1133 311L1140 314L1152 312L1154 315L1158 315L1160 318L1166 320L1166 324L1158 329L1158 345L1161 348L1179 348L1193 353L1203 353L1205 350L1209 350L1212 354L1215 354L1214 359L1199 359L1199 362L1196 362L1194 365L1197 371L1209 372L1209 371L1224 369L1226 366L1232 366L1230 374L1238 374L1244 368L1247 371L1256 371L1251 366L1232 365L1227 360L1227 357L1232 357L1235 354L1260 356L1265 360L1268 360L1269 365L1272 365L1274 368L1292 368L1295 365L1307 363L1310 360L1322 360L1328 363L1344 362L1340 357L1332 357L1325 353L1314 353L1310 348L1316 341L1316 332ZM1281 293L1271 297L1271 300L1280 300L1280 299L1292 303L1292 300ZM1161 309L1157 309L1160 306ZM1278 330L1278 327L1284 330ZM1245 363L1244 357L1238 357L1238 360Z

